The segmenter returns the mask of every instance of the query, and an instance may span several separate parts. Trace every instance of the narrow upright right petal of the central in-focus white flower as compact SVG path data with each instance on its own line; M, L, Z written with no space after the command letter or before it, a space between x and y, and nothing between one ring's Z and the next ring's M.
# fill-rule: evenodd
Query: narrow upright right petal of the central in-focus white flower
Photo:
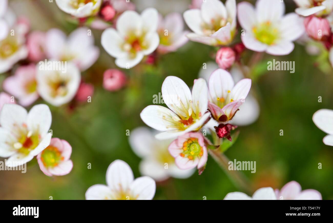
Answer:
M208 88L206 81L202 78L199 78L195 81L192 89L192 108L193 112L196 115L203 115L208 106Z

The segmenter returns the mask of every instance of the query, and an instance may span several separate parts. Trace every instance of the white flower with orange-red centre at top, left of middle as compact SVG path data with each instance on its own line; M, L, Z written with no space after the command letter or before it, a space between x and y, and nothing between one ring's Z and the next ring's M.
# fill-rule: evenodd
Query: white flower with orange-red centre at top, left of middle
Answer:
M102 46L116 58L118 67L134 67L158 47L157 25L158 12L154 8L144 10L141 15L126 11L117 20L117 30L108 28L103 32Z

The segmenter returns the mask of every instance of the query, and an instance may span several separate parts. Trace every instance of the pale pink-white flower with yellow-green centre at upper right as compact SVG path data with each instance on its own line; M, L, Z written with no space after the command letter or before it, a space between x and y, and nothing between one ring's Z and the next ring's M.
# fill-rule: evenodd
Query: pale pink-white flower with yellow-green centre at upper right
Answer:
M256 8L248 2L238 4L238 21L245 33L245 47L272 55L287 55L294 49L293 41L304 33L302 19L295 13L284 16L285 6L279 0L258 0Z

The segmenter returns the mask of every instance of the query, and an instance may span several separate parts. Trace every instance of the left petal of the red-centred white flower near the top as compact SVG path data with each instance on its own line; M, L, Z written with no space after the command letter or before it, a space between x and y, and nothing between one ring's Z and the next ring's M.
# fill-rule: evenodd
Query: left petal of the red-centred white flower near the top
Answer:
M124 39L114 28L104 30L101 36L101 44L105 51L113 57L125 57L127 52L121 48Z

